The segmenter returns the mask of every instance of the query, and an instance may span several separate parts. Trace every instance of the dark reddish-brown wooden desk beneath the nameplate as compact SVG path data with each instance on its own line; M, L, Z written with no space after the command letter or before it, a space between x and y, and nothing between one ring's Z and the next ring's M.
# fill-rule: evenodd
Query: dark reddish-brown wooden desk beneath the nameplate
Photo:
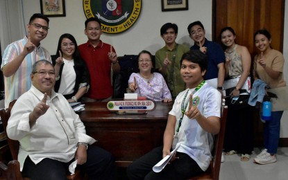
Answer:
M127 167L154 147L162 145L168 113L173 103L156 102L148 114L119 115L108 111L107 102L85 102L80 118L96 145L115 156L117 166Z

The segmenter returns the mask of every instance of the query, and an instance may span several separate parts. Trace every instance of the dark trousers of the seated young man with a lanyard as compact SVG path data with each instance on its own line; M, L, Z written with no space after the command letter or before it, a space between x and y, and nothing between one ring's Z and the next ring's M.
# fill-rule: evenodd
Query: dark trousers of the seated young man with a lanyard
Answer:
M203 170L198 166L190 156L184 153L177 152L176 159L161 172L153 172L153 166L162 159L163 147L156 147L151 152L145 154L141 158L134 161L127 168L129 179L187 179L203 173Z

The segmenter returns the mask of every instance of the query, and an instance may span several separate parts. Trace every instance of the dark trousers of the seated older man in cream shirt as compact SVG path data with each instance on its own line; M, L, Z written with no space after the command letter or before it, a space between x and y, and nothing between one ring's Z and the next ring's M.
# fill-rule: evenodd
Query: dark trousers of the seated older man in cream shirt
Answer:
M69 165L75 161L72 159L69 163L62 163L54 159L43 159L40 163L33 163L27 156L22 174L31 180L58 180L67 179ZM87 161L83 165L77 165L81 171L85 172L89 179L115 179L115 159L110 152L97 146L90 146L87 150Z

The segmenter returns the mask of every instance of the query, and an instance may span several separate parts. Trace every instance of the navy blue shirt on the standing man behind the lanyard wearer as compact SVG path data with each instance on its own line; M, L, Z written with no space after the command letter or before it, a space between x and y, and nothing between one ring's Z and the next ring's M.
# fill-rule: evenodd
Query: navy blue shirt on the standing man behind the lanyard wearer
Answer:
M205 74L205 80L211 80L214 78L218 78L218 64L225 63L225 54L223 49L221 48L220 44L217 42L211 42L208 41L205 38L205 42L203 44L207 48L207 58L208 58L208 67ZM200 47L194 43L193 46L191 46L192 49L199 49Z

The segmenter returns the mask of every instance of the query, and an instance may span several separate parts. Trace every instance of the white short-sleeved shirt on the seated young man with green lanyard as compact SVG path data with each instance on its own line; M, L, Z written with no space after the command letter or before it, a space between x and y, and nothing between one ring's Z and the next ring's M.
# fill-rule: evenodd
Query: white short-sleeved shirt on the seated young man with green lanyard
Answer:
M189 94L192 93L193 90L194 89L186 89L179 93L174 101L172 110L169 112L172 116L176 116L175 131L182 117L181 104L185 93L189 91L185 100L186 103L187 100L189 100ZM205 118L210 116L220 117L221 94L217 89L207 84L207 82L205 82L201 89L194 93L193 100L194 102L198 102L198 105L196 104L197 108ZM188 107L189 105L187 105L187 108ZM202 129L196 119L189 119L184 115L182 125L178 132L178 144L180 144L180 147L177 152L188 154L203 171L207 170L212 159L213 135Z

